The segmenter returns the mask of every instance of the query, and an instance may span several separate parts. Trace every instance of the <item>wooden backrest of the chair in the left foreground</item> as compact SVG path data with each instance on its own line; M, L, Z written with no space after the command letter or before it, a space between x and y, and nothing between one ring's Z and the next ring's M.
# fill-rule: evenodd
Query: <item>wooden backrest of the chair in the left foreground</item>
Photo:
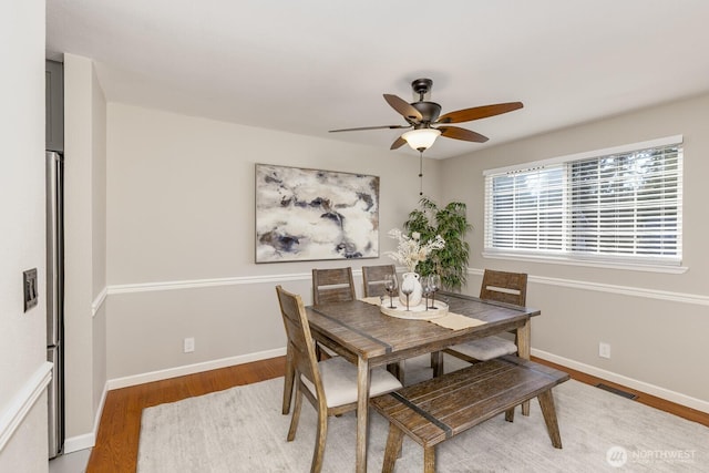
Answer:
M302 374L316 387L317 398L325 400L320 371L315 352L315 340L310 333L308 316L300 296L288 292L281 286L276 286L280 313L288 337L289 356L292 357L292 368L296 374Z

